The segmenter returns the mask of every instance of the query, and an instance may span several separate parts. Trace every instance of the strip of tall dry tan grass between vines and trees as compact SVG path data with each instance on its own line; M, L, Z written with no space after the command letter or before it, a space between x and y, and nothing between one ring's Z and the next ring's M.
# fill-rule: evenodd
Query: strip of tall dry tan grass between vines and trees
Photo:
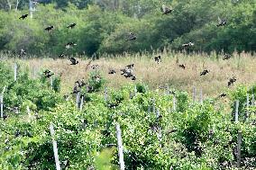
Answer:
M187 90L192 92L193 86L197 89L202 88L206 95L217 95L223 93L227 88L229 78L237 78L236 85L251 85L256 82L256 58L250 54L233 54L233 58L223 60L216 58L215 55L194 54L186 55L183 53L162 53L162 62L157 64L152 59L153 55L124 55L117 58L100 58L91 63L98 64L100 72L107 80L107 86L119 87L132 83L131 79L126 79L120 75L119 69L128 64L134 63L134 73L137 76L136 82L143 82L150 85L151 88L157 88L159 85L169 85L170 87ZM186 69L177 66L184 64ZM69 65L68 59L41 58L23 60L33 70L49 68L57 74L62 74L62 92L71 90L74 82L79 78L87 78L90 67L86 70L89 60L78 59L77 66ZM117 70L115 75L108 75L108 69ZM204 69L209 69L210 73L206 76L199 76ZM231 87L233 88L233 87Z

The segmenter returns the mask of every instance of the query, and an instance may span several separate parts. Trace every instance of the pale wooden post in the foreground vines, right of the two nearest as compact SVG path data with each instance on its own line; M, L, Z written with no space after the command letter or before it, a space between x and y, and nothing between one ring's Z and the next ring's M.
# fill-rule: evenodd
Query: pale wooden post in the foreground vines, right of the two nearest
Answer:
M119 165L120 165L120 169L124 170L123 142L122 142L120 125L118 123L116 124L115 129L116 129L116 138L117 138L117 145L118 145Z

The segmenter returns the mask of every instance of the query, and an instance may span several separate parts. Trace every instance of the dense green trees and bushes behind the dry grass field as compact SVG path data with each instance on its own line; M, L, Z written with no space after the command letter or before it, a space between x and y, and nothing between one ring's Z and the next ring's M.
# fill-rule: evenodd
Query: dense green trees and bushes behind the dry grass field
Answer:
M11 5L8 5L8 3ZM241 52L256 49L256 6L253 0L41 0L33 19L18 18L29 13L28 1L1 1L0 50L54 57L95 53L151 51L170 46L180 50L181 44L195 42L190 50ZM160 12L161 4L171 6L169 15ZM218 17L227 24L216 27ZM66 27L76 22L74 29ZM44 28L53 25L47 33ZM136 41L125 41L130 31ZM78 44L65 50L69 41Z

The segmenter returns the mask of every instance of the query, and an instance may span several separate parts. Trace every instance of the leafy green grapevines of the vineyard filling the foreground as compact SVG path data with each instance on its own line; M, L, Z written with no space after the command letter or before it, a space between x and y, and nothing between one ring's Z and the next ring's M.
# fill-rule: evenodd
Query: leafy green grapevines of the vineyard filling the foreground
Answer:
M256 168L254 85L202 98L137 82L116 90L93 71L90 89L63 96L60 76L23 64L0 61L0 77L0 169Z

